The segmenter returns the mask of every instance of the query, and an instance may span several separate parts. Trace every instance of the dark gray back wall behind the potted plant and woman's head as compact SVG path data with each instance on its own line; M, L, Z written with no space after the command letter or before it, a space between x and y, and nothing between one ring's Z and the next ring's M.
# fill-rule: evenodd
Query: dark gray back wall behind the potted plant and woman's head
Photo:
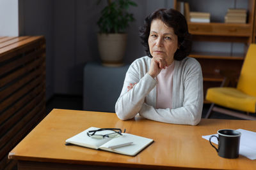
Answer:
M57 94L81 94L84 64L99 60L96 23L106 1L99 6L96 2L54 1L54 92ZM164 7L167 1L136 2L138 7L131 8L136 22L128 30L125 62L144 54L138 39L138 26L152 8Z

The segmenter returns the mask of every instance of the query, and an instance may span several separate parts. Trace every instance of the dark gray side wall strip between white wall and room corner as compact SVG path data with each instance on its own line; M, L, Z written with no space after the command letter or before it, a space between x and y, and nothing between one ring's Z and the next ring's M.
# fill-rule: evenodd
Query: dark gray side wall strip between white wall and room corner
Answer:
M20 36L46 39L46 97L54 94L54 4L52 0L19 0ZM64 76L64 75L63 75Z

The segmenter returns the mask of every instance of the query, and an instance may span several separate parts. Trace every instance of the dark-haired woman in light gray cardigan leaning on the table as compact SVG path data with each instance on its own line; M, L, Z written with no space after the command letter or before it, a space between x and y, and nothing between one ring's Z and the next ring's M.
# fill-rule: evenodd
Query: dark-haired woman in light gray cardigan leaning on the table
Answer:
M116 101L122 120L141 117L170 124L197 125L203 107L200 64L187 57L191 39L185 17L160 9L140 29L147 56L134 60Z

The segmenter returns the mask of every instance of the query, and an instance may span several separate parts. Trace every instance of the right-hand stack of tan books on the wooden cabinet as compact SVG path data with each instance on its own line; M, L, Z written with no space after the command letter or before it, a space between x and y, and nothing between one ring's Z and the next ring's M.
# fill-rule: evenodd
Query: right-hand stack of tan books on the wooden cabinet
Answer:
M246 24L247 11L246 9L229 8L225 15L225 23L240 23Z

